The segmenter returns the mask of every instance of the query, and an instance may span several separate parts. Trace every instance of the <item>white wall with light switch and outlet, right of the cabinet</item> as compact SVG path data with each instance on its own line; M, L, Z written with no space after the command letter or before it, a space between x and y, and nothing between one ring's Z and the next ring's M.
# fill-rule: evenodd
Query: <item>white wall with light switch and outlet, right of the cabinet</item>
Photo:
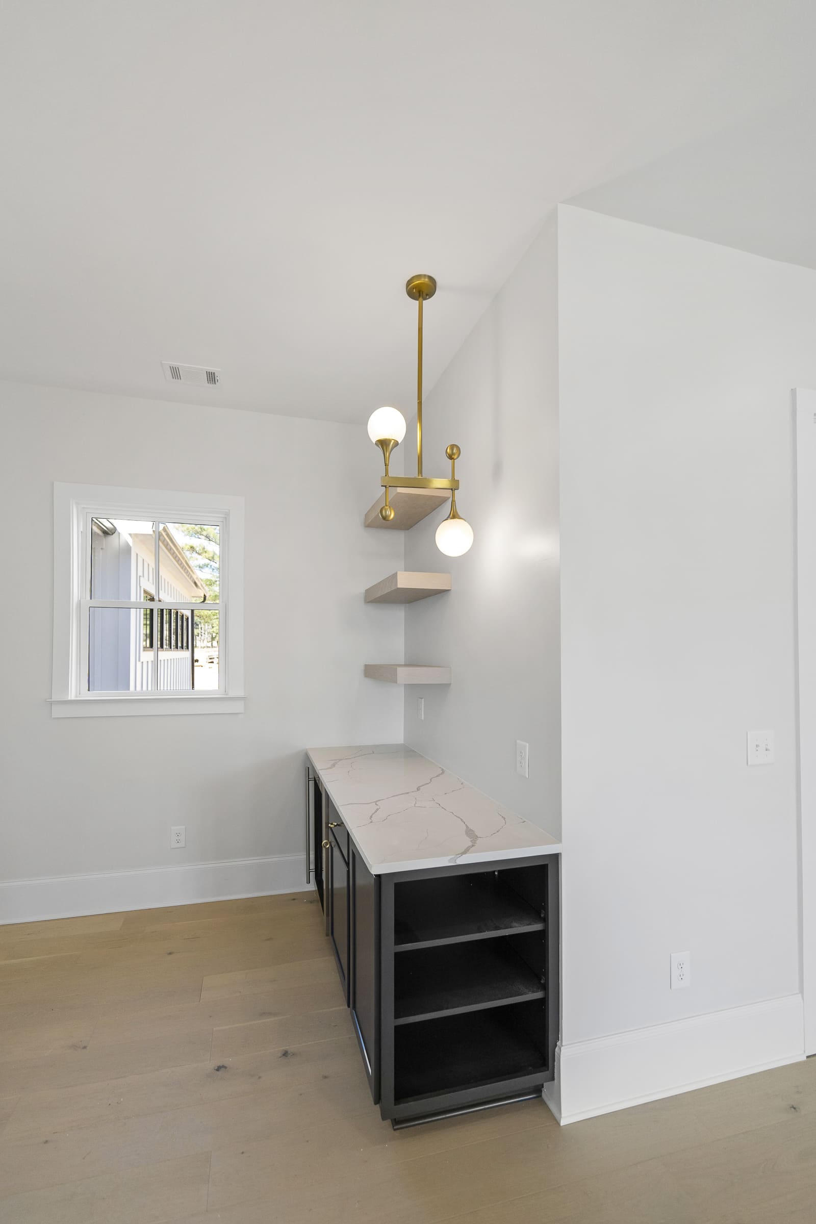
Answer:
M559 209L568 1116L801 1053L790 390L815 334L812 271ZM746 766L755 727L776 765ZM719 1053L699 1022L683 1045L724 1009ZM632 1029L664 1054L613 1040L632 1078L602 1083Z

